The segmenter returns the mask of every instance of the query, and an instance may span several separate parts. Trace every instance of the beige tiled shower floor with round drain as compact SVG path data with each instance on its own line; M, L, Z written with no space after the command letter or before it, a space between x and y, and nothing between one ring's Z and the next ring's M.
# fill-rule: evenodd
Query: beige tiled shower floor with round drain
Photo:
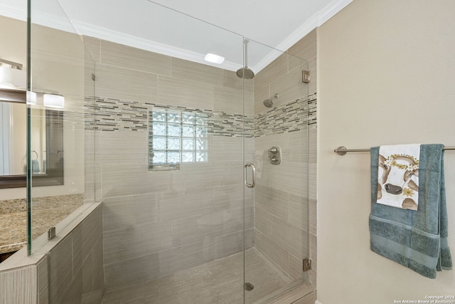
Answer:
M102 304L240 304L243 303L243 253L129 288L108 290ZM291 280L267 261L256 248L245 251L245 303L255 303Z

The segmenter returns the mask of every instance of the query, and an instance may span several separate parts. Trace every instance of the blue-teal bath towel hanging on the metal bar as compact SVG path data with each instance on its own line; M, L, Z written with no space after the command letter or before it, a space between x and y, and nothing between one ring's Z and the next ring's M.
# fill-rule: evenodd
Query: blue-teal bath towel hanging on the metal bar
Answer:
M421 145L417 211L377 204L379 147L371 153L370 248L427 278L449 270L443 145Z

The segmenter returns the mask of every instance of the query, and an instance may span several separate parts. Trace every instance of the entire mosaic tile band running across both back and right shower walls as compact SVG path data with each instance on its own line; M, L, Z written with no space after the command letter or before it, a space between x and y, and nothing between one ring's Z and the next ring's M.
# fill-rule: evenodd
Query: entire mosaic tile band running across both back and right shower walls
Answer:
M260 137L316 127L316 93L293 100L285 105L257 115L240 115L227 112L191 109L178 106L139 103L112 98L86 98L89 109L85 116L86 130L144 131L148 130L148 113L152 108L184 110L205 115L208 133L228 137ZM245 125L245 130L244 126Z

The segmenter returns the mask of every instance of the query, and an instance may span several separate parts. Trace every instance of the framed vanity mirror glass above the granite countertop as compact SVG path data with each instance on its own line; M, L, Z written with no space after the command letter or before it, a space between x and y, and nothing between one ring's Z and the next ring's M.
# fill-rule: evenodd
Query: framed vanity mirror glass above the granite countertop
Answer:
M32 185L63 184L63 111L31 111ZM0 89L0 189L26 187L26 92Z

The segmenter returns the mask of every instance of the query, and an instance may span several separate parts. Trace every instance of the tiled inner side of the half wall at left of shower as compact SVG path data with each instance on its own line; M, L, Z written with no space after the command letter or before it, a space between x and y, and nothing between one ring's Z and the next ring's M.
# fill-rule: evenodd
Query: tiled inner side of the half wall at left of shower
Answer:
M45 293L49 303L100 303L104 293L102 242L100 205L47 254L49 287L39 290L43 303L48 303Z

